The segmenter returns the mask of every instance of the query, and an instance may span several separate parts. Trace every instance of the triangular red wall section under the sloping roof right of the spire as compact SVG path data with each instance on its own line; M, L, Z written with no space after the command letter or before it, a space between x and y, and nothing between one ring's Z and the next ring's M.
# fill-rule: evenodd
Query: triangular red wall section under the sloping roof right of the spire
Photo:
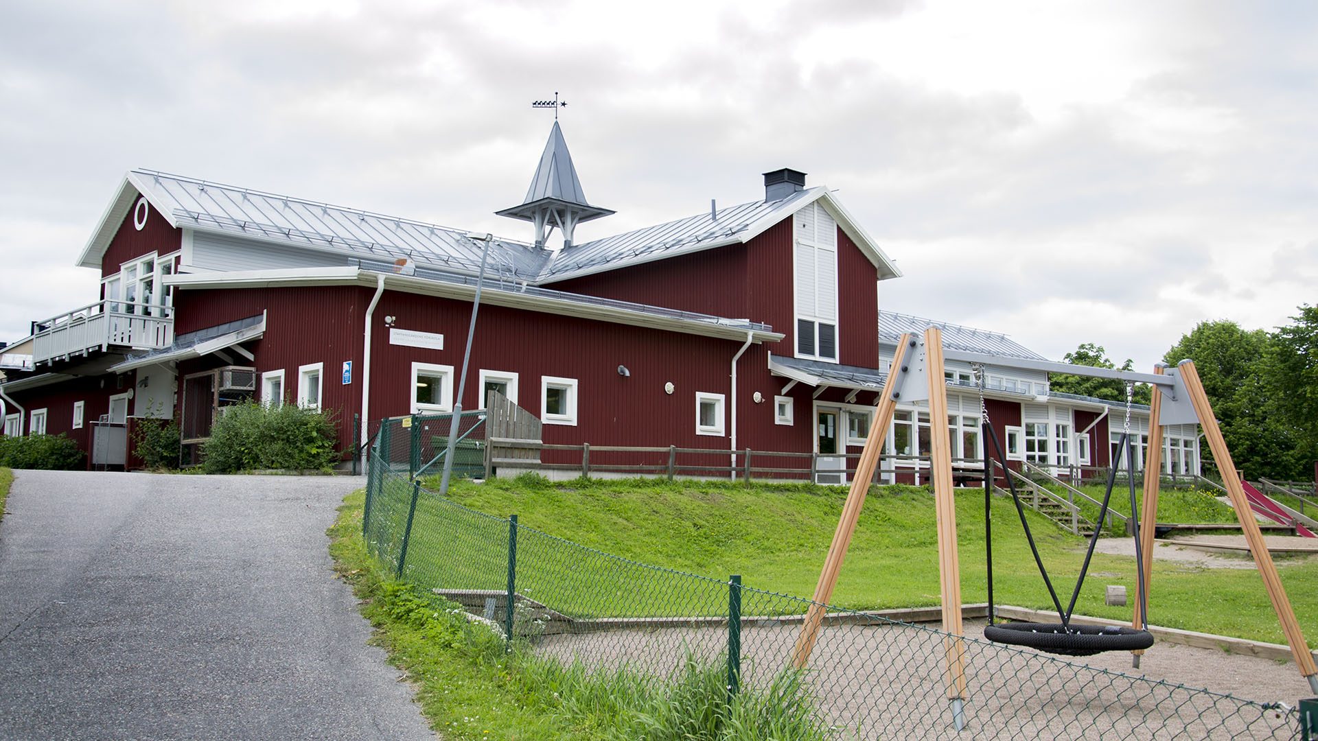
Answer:
M730 245L572 278L546 287L714 316L746 318L747 245Z

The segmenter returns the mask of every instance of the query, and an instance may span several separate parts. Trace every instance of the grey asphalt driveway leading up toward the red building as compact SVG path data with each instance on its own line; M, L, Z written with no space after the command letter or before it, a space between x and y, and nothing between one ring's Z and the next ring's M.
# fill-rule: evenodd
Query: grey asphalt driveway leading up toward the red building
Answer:
M16 475L0 738L435 738L326 552L364 479Z

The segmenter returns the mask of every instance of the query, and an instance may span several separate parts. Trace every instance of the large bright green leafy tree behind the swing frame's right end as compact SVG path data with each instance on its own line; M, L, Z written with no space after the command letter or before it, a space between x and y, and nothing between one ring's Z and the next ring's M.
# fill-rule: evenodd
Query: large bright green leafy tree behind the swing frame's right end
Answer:
M1164 356L1172 365L1194 361L1231 459L1246 476L1284 476L1296 467L1294 435L1278 418L1268 388L1272 343L1263 330L1224 319L1199 322ZM1211 459L1207 446L1202 452Z

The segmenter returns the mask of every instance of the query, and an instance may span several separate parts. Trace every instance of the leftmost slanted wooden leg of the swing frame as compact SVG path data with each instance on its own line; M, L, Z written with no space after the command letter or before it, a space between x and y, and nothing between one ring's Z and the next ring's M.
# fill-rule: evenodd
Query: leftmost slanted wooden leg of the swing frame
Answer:
M815 601L805 613L801 622L801 632L796 637L796 646L792 649L792 665L804 668L815 650L815 641L818 638L820 625L824 622L824 612L828 601L833 599L833 587L837 585L837 575L842 568L842 559L846 558L846 548L851 545L851 534L855 531L855 522L861 517L861 508L865 505L865 494L870 490L870 477L878 465L883 442L888 436L888 426L892 423L892 411L896 409L896 400L892 392L896 388L898 369L905 361L907 348L913 340L911 335L902 335L898 341L896 353L892 357L892 370L883 384L883 393L879 394L878 406L874 407L874 421L870 425L870 435L861 450L861 460L855 464L855 476L851 479L851 488L846 493L846 502L842 505L842 516L838 518L837 530L833 531L833 542L828 548L828 558L824 559L824 571L820 572L818 584L815 587ZM938 370L941 382L942 370ZM815 481L815 465L817 456L811 456L811 481Z

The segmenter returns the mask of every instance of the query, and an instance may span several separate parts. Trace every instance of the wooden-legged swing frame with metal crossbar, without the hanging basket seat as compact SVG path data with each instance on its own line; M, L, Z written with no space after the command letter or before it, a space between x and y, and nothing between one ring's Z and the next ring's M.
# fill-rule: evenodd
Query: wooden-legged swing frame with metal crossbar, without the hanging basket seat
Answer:
M923 344L923 352L921 352ZM957 560L957 512L953 497L952 481L952 442L945 423L940 419L948 418L948 389L944 378L945 356L956 360L969 360L971 363L992 363L996 359L991 355L956 351L945 353L942 348L942 332L937 327L931 327L924 332L924 341L916 340L915 335L905 334L898 341L896 353L892 357L892 367L888 372L883 392L874 407L874 421L870 425L870 435L857 463L855 476L851 479L851 488L847 492L846 502L842 505L842 516L838 518L837 530L833 533L833 542L829 545L828 556L824 559L824 570L820 572L818 583L815 587L815 599L801 622L796 645L792 650L792 665L804 668L809 663L811 653L818 639L820 629L824 624L826 604L833 597L833 588L837 585L838 575L842 570L842 560L855 533L855 523L861 517L865 505L865 496L869 493L874 469L878 465L880 450L887 439L887 430L892 423L892 415L899 401L923 401L929 403L929 443L931 443L931 479L933 483L934 513L938 530L938 576L942 592L942 630L948 634L944 641L948 699L953 703L953 717L957 728L961 728L961 707L966 697L965 676L965 632L961 625L961 570ZM1083 365L1064 365L1048 361L1021 361L1012 359L1014 365L1025 365L1043 370L1073 373L1078 376L1093 376L1103 378L1120 378L1127 381L1143 381L1153 384L1155 393L1149 411L1149 444L1144 471L1161 472L1162 467L1162 394L1170 393L1170 398L1180 403L1181 413L1188 414L1193 407L1193 415L1203 427L1203 436L1213 451L1213 458L1222 472L1222 481L1231 500L1240 530L1244 533L1249 552L1253 556L1259 575L1263 578L1264 589L1272 601L1272 609L1281 624L1281 632L1286 637L1290 653L1296 659L1300 674L1309 680L1310 688L1318 692L1318 667L1314 657L1305 642L1300 622L1296 620L1290 599L1281 585L1277 567L1263 541L1263 533L1249 509L1244 488L1240 485L1240 476L1231 460L1231 451L1227 450L1222 436L1222 429L1213 415L1213 406L1199 381L1199 373L1194 363L1182 360L1174 369L1166 365L1155 368L1155 374L1131 373L1111 370L1104 368L1089 368ZM1170 373L1169 373L1170 370ZM924 382L928 384L928 393L920 388L919 376L923 373ZM1169 378L1168 376L1176 376ZM1174 381L1174 382L1173 382ZM1184 392L1188 400L1176 398L1176 393ZM902 394L905 393L905 398ZM1185 402L1189 402L1186 406ZM1176 423L1176 422L1166 422ZM986 468L987 471L987 468ZM1133 475L1133 472L1130 472ZM1135 612L1132 626L1141 628L1144 624L1143 609L1147 605L1149 584L1153 576L1153 523L1157 522L1157 497L1161 476L1144 476L1144 502L1140 508L1140 521L1145 523L1140 529L1140 545L1143 563L1137 564L1144 572L1144 589L1136 587ZM1132 513L1133 514L1133 513ZM1139 581L1139 580L1137 580ZM1135 666L1139 666L1139 654L1135 653Z

